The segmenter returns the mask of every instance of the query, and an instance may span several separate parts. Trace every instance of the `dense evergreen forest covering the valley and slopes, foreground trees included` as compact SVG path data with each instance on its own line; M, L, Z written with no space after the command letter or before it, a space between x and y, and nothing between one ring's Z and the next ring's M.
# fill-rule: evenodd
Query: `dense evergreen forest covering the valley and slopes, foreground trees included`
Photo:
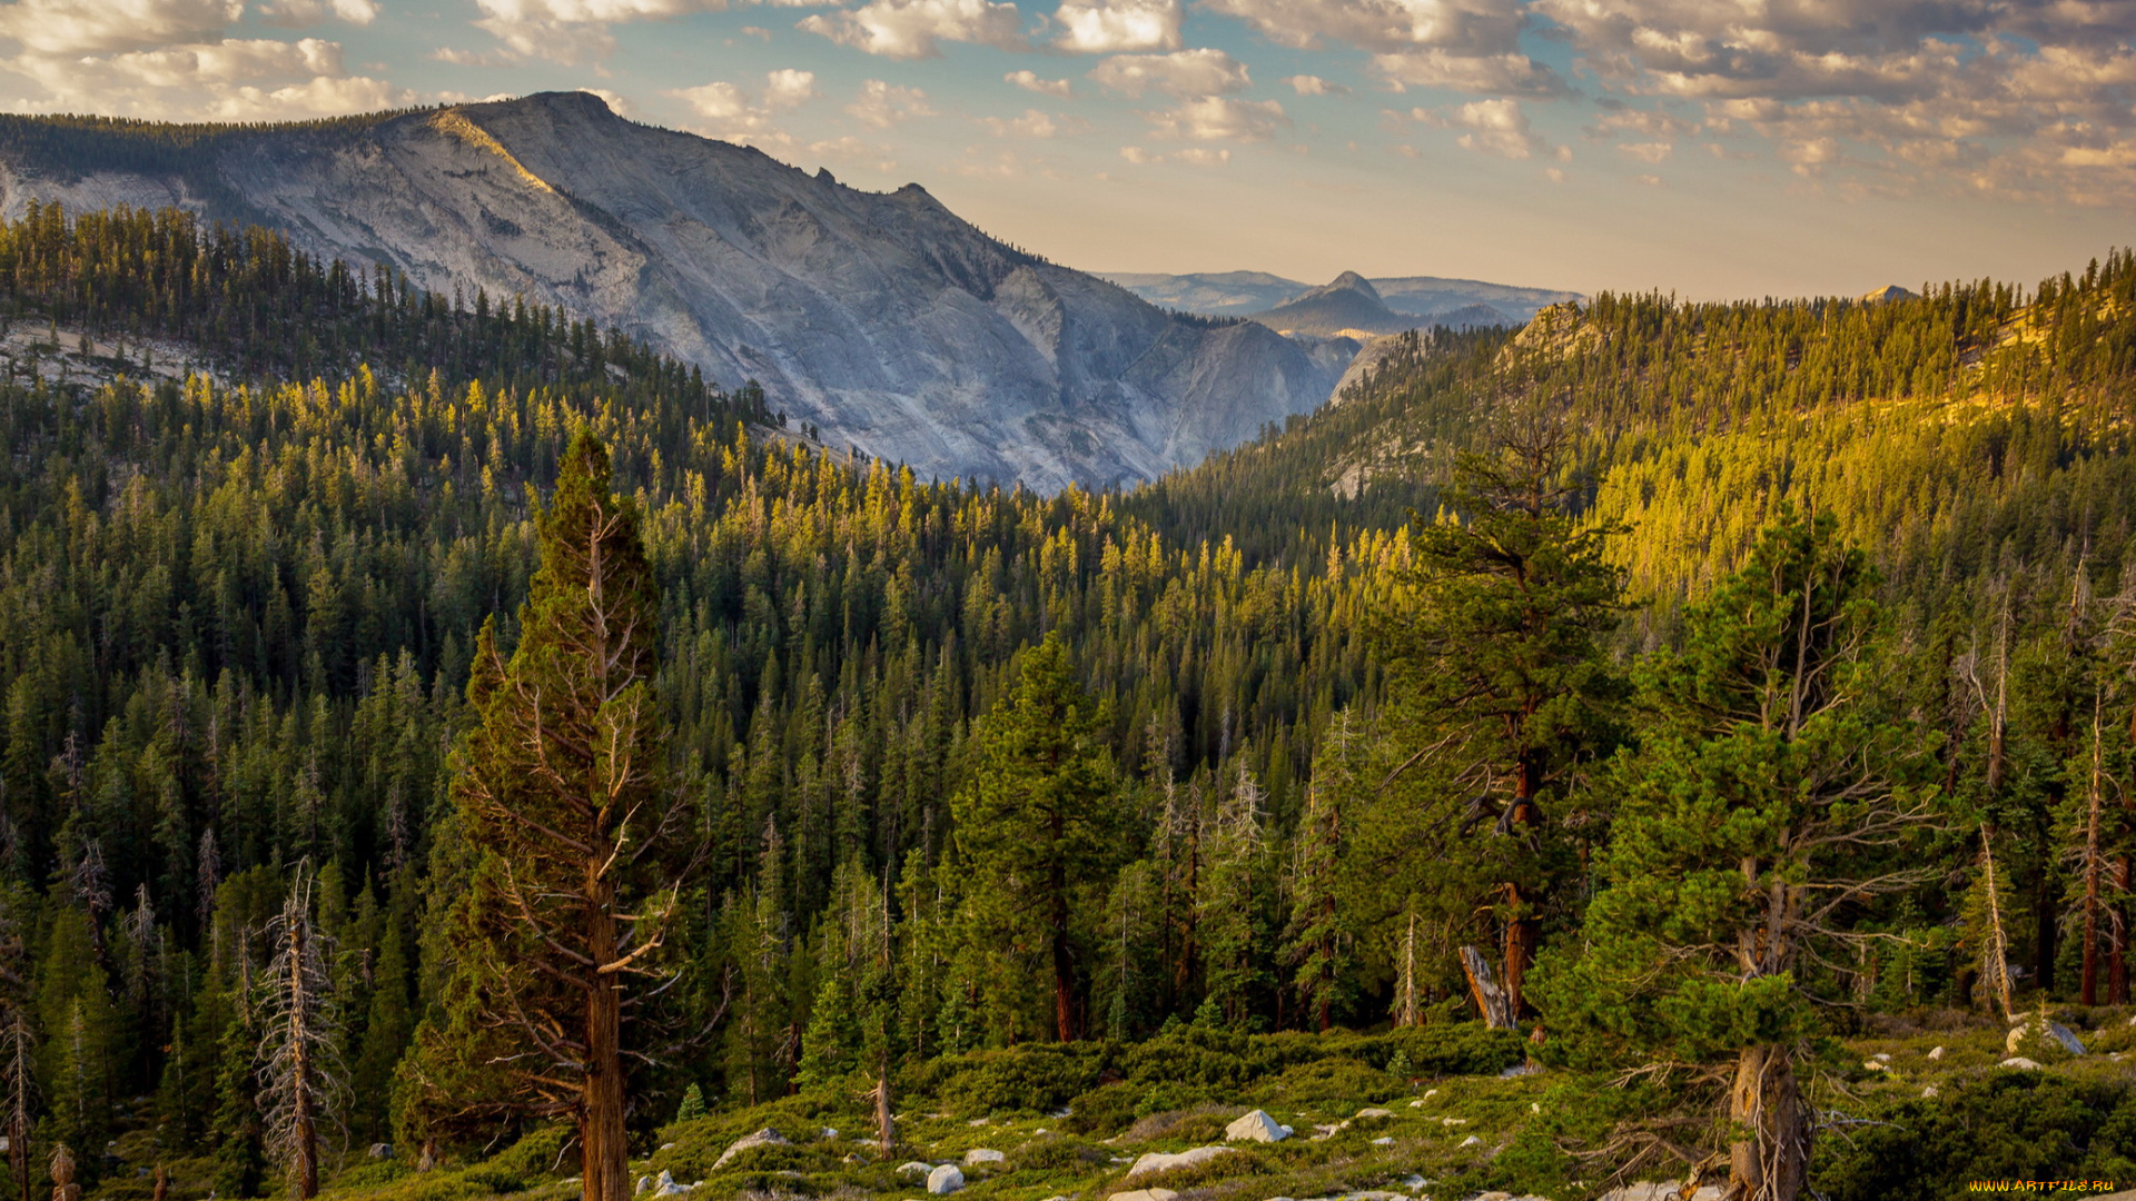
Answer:
M1059 496L175 212L0 293L109 380L0 380L26 1201L886 1192L968 1120L1036 1201L1243 1098L1331 1118L1256 1199L2136 1175L2125 250L1420 333Z

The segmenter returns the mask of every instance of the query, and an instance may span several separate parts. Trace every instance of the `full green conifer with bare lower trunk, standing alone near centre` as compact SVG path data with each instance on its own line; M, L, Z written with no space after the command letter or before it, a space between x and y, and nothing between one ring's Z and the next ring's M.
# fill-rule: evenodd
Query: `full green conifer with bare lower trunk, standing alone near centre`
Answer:
M1042 949L1053 1032L1081 1032L1077 919L1089 885L1117 855L1113 763L1096 705L1074 682L1068 648L1049 633L1017 665L1017 688L987 714L978 767L951 808L972 876L972 917L1010 945Z

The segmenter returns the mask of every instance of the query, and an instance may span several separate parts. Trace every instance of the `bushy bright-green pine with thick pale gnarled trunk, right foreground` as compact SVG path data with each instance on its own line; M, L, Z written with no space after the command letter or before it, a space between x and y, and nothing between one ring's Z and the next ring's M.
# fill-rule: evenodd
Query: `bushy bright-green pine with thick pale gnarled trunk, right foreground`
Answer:
M1860 906L1933 878L1933 742L1875 688L1875 583L1831 517L1784 511L1749 562L1685 613L1685 650L1640 677L1645 742L1598 782L1619 797L1585 953L1546 972L1581 1054L1734 1060L1728 1192L1807 1188L1796 1077L1824 964L1875 938Z

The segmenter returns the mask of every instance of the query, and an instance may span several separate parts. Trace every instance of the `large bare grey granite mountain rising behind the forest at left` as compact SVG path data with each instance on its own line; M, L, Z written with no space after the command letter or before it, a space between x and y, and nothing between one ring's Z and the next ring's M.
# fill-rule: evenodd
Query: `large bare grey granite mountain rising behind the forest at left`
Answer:
M923 477L1153 479L1329 395L1346 361L1166 314L925 188L863 192L585 92L299 126L0 122L0 212L184 205L436 293L613 325Z

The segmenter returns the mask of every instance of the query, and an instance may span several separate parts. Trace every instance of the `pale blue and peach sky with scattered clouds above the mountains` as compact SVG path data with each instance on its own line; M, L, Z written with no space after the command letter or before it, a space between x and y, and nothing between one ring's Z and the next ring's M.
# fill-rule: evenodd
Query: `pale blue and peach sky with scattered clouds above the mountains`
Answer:
M1091 271L1698 299L2136 244L2136 0L0 0L0 107L590 90Z

